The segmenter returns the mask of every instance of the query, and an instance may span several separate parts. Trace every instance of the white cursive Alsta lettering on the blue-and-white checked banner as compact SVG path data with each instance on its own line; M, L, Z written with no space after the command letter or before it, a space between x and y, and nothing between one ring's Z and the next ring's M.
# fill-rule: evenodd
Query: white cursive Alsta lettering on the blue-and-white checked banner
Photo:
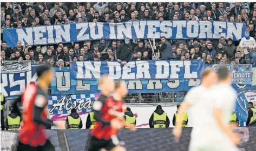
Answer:
M84 100L81 99L78 101L78 104L76 101L73 102L73 104L71 104L71 106L69 106L69 104L71 103L72 98L68 98L67 101L65 101L66 96L62 97L59 101L57 101L55 104L52 104L52 108L50 109L50 113L52 113L52 111L54 111L55 108L58 107L58 111L62 111L64 108L69 111L72 108L78 109L79 111L81 111L82 109L90 109L91 107L93 107L93 101L91 100Z

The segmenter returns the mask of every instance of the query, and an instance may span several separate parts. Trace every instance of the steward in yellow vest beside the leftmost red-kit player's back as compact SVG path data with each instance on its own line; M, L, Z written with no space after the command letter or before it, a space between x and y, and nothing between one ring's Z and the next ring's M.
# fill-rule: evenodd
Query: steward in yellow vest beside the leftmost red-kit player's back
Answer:
M12 108L11 113L6 118L6 129L9 131L18 130L21 127L21 116Z

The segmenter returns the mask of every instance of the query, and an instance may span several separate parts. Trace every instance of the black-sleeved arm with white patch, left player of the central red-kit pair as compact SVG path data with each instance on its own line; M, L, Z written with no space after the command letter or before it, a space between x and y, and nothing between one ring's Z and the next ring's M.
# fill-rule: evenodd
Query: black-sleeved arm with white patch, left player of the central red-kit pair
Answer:
M101 109L104 106L107 98L108 97L106 97L106 95L101 94L100 98L95 101L93 105L94 119L101 122L103 125L110 125L110 121L103 120L101 113Z

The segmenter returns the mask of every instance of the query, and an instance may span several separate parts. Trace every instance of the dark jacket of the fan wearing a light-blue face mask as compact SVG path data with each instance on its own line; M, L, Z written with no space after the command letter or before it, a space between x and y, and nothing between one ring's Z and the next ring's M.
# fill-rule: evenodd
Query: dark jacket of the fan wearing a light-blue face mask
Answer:
M121 44L116 51L116 59L126 61L127 63L132 56L133 47L125 43Z

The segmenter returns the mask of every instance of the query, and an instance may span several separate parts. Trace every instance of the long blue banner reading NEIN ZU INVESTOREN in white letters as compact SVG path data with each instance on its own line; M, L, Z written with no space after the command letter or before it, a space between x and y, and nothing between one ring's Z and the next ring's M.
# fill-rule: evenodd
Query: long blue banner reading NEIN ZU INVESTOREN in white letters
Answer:
M147 20L123 23L74 23L6 29L3 39L8 47L22 45L47 45L84 42L100 39L219 39L225 37L237 41L244 37L245 23L195 21L195 20Z

